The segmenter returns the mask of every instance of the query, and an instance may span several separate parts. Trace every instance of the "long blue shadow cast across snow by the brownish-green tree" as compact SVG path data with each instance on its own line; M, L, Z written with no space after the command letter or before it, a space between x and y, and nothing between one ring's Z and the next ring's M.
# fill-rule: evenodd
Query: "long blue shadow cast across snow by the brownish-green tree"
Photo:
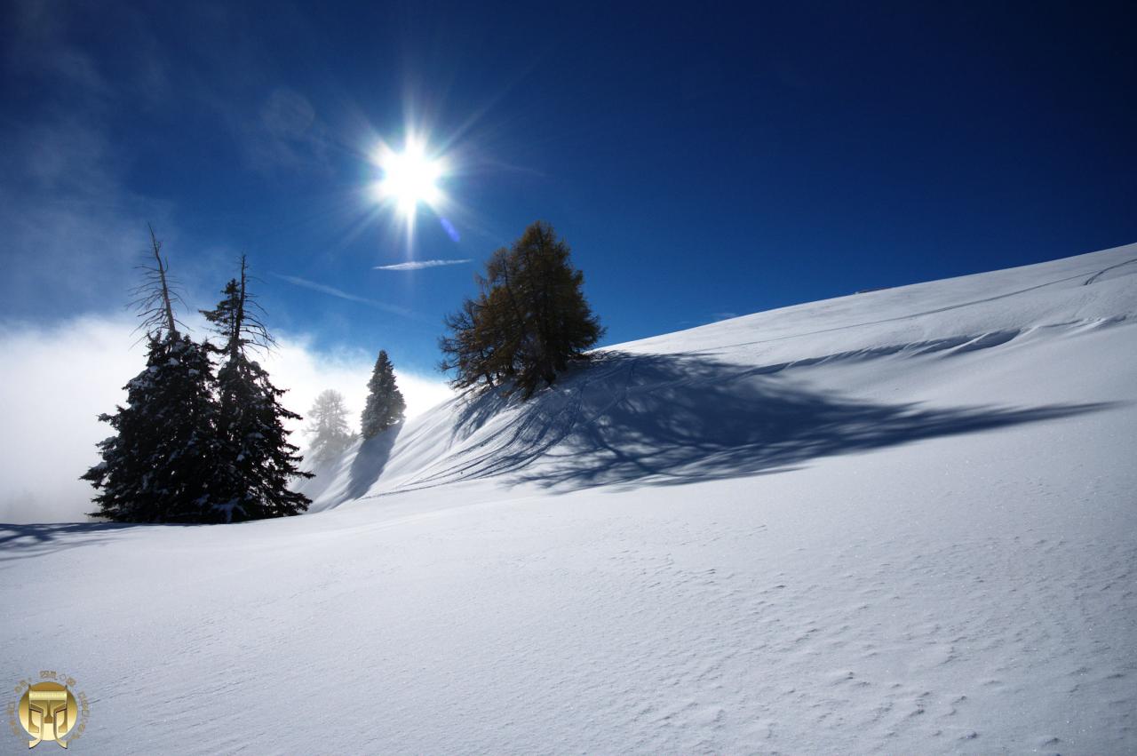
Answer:
M420 484L507 475L567 491L757 475L820 457L991 431L1107 404L924 408L806 389L754 365L698 355L609 352L529 402L483 394L459 412L470 434L508 425Z

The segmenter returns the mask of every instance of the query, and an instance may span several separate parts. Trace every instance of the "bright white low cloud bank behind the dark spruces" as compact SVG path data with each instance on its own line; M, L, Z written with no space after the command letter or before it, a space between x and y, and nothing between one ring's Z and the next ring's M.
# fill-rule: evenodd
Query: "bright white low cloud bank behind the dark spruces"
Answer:
M127 316L84 316L43 327L0 323L0 522L75 522L90 512L94 489L78 476L98 462L96 443L113 433L100 413L125 399L122 387L146 363L143 344ZM196 329L200 334L201 329ZM132 346L133 344L133 346ZM283 404L307 413L324 389L343 393L358 421L374 355L362 350L323 354L302 335L279 334L279 349L262 363L288 389ZM451 393L435 376L396 369L415 416ZM293 430L299 430L297 426ZM294 433L293 442L305 438Z

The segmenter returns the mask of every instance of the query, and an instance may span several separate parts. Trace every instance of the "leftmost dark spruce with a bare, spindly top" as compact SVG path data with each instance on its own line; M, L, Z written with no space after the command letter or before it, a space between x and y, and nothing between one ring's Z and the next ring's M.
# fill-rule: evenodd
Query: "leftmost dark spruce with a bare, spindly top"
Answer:
M126 384L126 405L100 415L116 434L82 477L99 493L91 514L117 522L208 522L218 460L213 366L202 344L177 331L168 263L150 230L153 265L135 293L147 331L147 366Z

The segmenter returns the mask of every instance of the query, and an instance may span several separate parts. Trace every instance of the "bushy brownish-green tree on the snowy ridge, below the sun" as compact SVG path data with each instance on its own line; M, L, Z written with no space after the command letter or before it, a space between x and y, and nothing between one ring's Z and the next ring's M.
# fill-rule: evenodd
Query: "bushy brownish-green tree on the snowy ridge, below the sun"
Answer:
M445 321L450 333L439 341L441 368L457 371L453 385L508 383L526 398L541 383L551 385L604 334L583 283L568 246L545 222L493 252L478 277L478 297Z

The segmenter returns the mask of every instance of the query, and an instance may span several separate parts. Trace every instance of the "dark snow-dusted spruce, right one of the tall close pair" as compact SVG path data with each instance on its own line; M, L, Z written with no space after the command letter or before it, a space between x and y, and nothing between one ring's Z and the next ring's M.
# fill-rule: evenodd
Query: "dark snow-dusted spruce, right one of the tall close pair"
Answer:
M273 339L262 323L263 313L248 291L248 264L241 257L241 277L230 281L223 299L211 310L201 310L223 339L211 347L221 356L217 368L218 430L223 465L216 504L223 522L297 515L312 500L288 488L301 472L299 447L289 443L285 419L300 419L280 404L285 390L268 380L268 373L251 359L251 349L268 349Z

